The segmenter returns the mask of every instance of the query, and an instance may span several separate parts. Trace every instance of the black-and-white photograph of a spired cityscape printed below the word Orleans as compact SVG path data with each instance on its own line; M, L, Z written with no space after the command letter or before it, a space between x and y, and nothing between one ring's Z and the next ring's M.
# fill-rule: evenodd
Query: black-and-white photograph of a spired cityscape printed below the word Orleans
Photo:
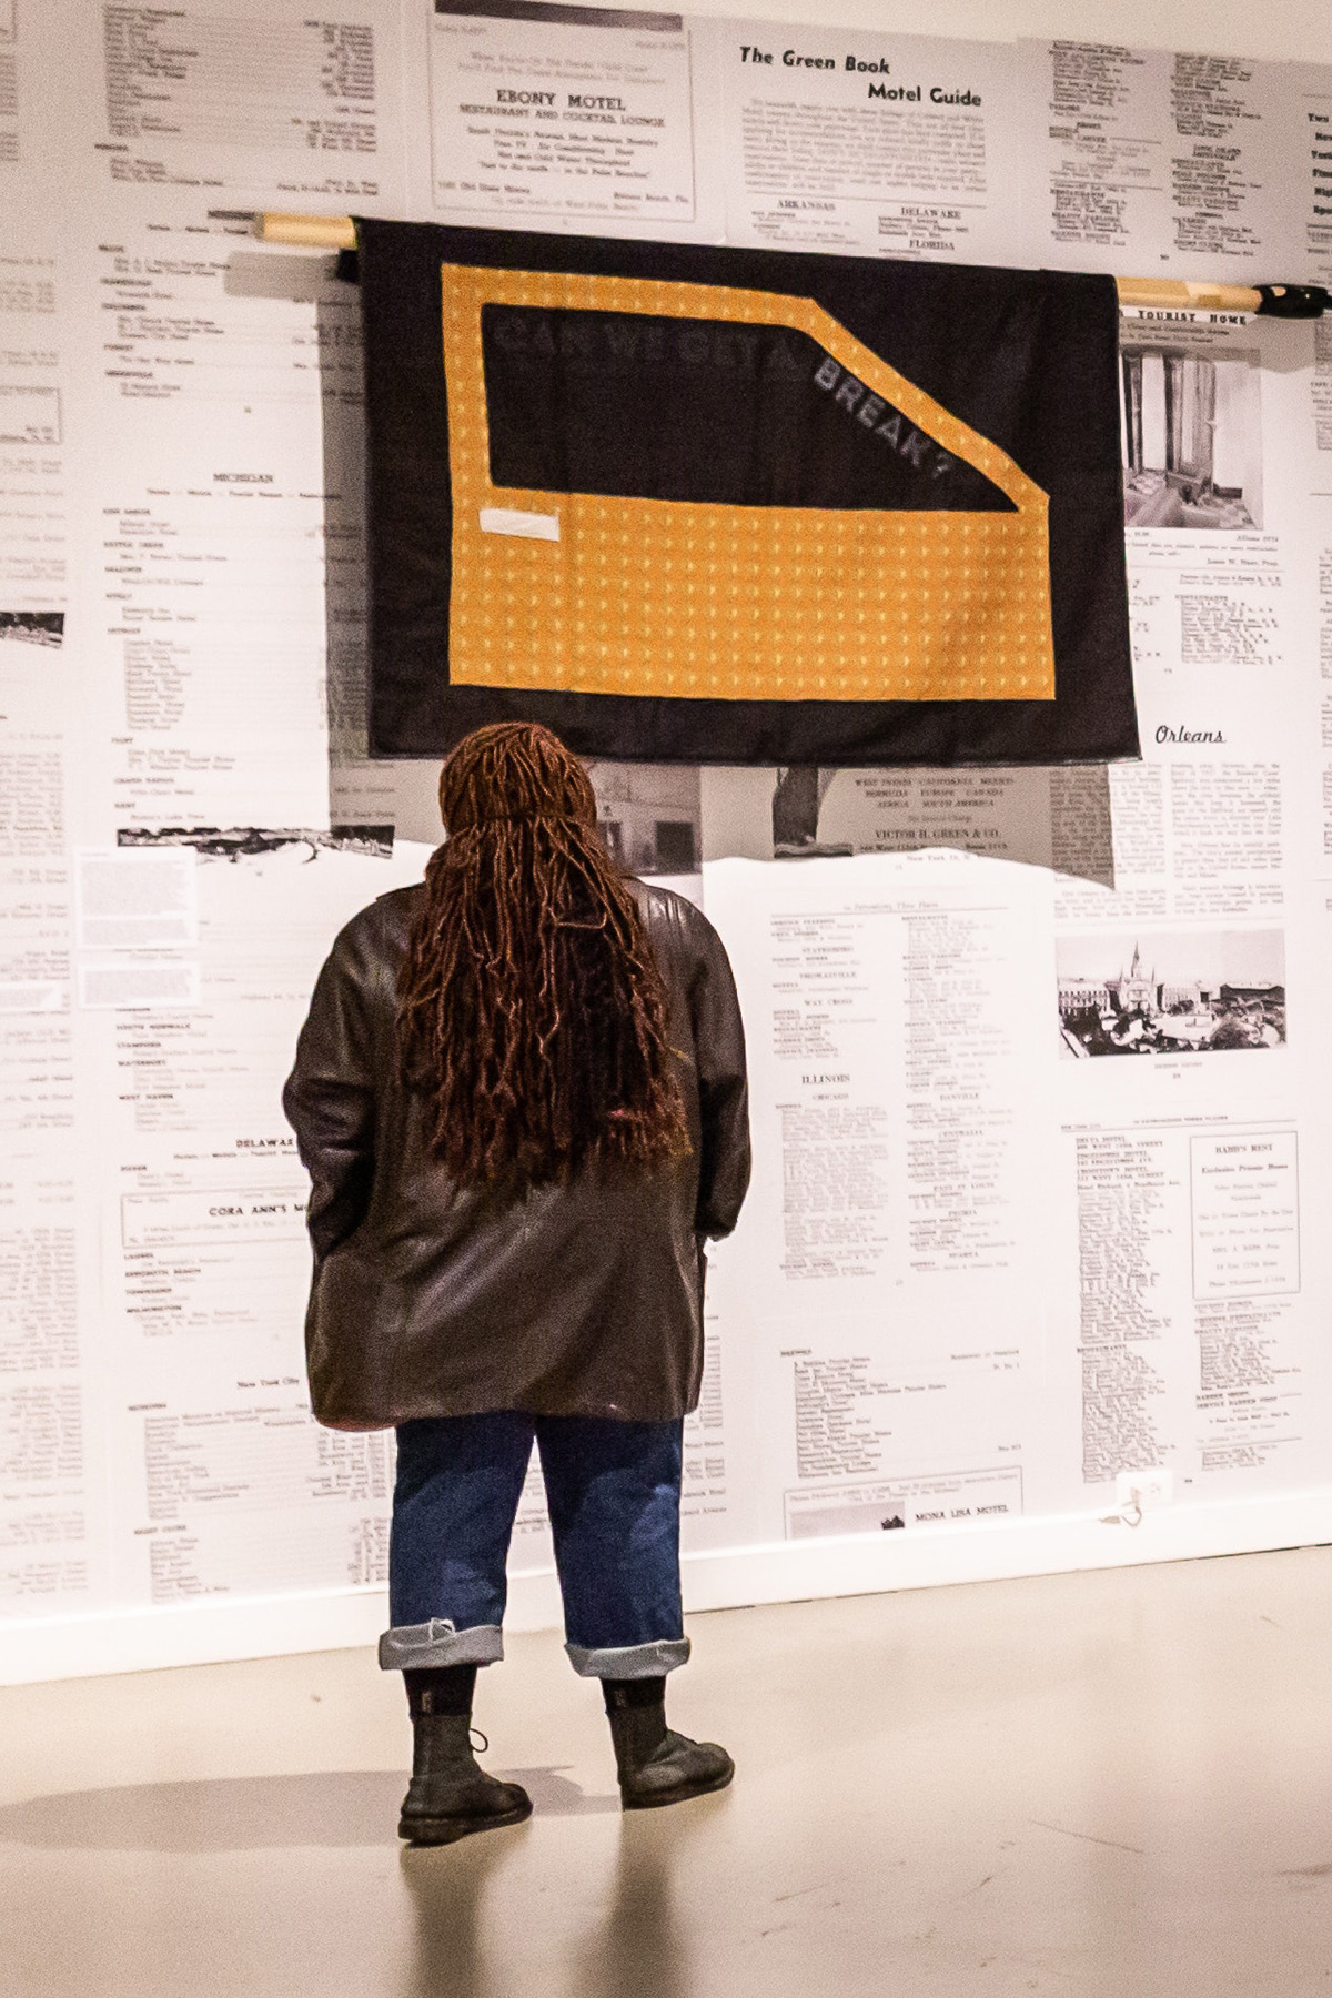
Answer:
M1058 937L1062 1053L1214 1055L1286 1043L1280 929Z

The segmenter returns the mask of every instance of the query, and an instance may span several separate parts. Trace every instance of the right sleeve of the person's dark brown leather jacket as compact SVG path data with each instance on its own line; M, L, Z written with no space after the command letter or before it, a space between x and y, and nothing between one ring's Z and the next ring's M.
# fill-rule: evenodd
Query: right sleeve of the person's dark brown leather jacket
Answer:
M729 1235L749 1189L749 1081L745 1025L731 959L713 925L695 911L697 959L689 1015L699 1065L703 1157L699 1159L699 1235Z

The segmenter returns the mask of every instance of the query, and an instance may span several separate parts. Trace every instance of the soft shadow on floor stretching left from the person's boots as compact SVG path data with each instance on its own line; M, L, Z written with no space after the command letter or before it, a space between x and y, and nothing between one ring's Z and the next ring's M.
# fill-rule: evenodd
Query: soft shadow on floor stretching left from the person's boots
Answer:
M495 1770L547 1816L619 1810L555 1768ZM282 1846L391 1846L405 1770L318 1770L64 1790L0 1808L0 1844L84 1852L260 1852Z

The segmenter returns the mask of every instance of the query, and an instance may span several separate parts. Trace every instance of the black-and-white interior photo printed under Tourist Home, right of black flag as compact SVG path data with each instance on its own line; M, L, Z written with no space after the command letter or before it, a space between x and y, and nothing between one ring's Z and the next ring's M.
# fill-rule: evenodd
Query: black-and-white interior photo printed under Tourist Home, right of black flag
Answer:
M1258 354L1126 346L1124 525L1262 527Z

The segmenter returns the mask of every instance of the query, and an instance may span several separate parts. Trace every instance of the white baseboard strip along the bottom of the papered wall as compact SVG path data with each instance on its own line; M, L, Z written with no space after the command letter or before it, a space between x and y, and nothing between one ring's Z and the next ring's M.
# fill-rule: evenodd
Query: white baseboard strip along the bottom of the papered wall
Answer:
M993 1582L1076 1568L1256 1554L1332 1540L1332 1491L1222 1504L1166 1506L1140 1526L1096 1514L931 1526L917 1532L775 1540L685 1556L689 1610L741 1608L817 1596L861 1596L947 1582ZM212 1596L172 1608L104 1610L0 1624L0 1684L146 1672L228 1658L373 1644L387 1620L379 1588L298 1596ZM559 1626L559 1588L547 1570L509 1578L509 1630Z

